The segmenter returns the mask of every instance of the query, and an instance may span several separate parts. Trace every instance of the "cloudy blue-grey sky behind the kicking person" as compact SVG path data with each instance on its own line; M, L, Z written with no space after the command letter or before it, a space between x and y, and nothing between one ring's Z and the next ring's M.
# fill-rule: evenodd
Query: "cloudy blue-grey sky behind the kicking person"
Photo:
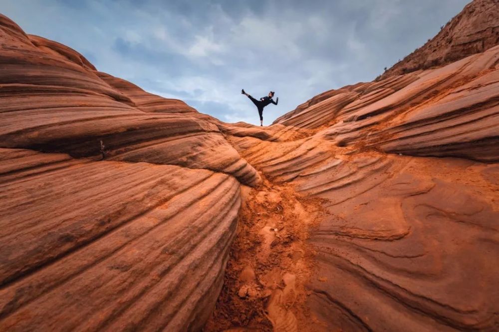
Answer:
M0 0L24 31L223 121L264 124L323 91L371 81L468 0Z

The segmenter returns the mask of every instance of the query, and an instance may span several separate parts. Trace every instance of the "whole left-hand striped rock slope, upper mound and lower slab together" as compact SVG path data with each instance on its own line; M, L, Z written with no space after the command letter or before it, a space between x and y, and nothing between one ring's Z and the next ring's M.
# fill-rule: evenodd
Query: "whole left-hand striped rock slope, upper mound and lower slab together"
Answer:
M259 181L220 122L0 15L0 123L0 330L200 330Z

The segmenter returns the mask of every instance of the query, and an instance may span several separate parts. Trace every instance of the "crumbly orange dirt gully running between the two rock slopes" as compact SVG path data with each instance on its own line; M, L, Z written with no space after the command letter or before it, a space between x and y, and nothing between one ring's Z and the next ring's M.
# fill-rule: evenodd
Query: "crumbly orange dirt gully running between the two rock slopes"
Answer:
M315 319L305 304L305 285L314 270L314 249L307 240L324 214L321 203L266 178L243 190L224 288L205 332L307 329Z

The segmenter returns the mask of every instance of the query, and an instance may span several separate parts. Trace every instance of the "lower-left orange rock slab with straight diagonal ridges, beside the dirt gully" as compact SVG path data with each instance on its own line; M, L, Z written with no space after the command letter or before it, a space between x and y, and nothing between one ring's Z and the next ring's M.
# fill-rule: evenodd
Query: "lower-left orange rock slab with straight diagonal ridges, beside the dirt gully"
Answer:
M0 149L1 331L198 330L240 206L231 176Z

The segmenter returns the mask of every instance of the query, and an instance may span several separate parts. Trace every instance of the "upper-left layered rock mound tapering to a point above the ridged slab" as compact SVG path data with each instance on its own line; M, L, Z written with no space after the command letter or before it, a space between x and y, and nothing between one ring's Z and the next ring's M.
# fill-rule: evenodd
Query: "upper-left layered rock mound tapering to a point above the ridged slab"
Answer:
M100 155L102 140L112 160L209 169L247 185L258 182L215 122L195 117L185 103L97 72L81 54L27 36L5 16L0 40L1 147L91 157Z

